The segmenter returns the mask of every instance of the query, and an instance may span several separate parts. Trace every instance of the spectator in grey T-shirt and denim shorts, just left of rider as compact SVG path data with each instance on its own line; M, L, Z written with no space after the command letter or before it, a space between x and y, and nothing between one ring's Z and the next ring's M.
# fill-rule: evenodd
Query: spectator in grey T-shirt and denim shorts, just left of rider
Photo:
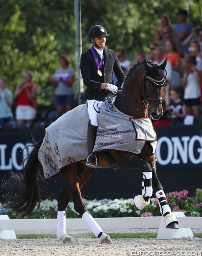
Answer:
M49 76L55 87L55 104L59 116L70 111L74 107L73 82L75 78L74 70L70 67L70 59L66 54L59 56L60 69L55 71L54 77Z

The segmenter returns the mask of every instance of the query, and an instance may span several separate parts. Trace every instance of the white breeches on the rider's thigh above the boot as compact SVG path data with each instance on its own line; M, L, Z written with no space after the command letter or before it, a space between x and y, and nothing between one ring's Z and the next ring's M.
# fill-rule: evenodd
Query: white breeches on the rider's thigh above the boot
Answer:
M88 104L88 115L90 119L90 123L94 126L98 126L98 119L97 119L97 111L99 111L99 107L103 104L103 101L99 100L86 100Z

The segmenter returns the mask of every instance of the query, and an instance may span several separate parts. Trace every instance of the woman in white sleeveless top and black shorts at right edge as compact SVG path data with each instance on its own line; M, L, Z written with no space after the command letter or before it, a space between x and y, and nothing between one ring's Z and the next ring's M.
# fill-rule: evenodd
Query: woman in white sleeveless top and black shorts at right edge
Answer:
M195 121L200 115L200 85L201 74L196 68L196 58L193 55L189 55L184 65L182 88L184 88L186 116L193 116Z

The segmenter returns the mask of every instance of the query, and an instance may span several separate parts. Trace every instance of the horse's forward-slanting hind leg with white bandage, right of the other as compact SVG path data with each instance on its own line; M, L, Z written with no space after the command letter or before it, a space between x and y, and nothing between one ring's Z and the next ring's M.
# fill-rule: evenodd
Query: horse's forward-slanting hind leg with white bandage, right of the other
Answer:
M86 204L81 197L76 165L71 165L65 170L62 170L60 174L71 191L75 211L77 211L82 216L94 235L101 239L101 243L111 243L110 237L103 233L101 227L96 223L92 215L90 215L88 212Z

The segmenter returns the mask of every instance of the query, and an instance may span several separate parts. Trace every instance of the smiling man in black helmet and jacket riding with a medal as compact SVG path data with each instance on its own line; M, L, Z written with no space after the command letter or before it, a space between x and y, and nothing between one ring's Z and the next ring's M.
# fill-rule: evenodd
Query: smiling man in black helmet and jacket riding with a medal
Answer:
M80 69L86 85L86 91L81 99L85 99L88 105L88 159L86 165L96 167L97 158L92 154L97 134L97 111L98 104L102 104L109 94L117 93L125 81L125 74L121 69L114 50L105 48L107 30L100 25L95 25L88 31L88 39L93 46L81 54ZM113 71L118 79L113 83Z

